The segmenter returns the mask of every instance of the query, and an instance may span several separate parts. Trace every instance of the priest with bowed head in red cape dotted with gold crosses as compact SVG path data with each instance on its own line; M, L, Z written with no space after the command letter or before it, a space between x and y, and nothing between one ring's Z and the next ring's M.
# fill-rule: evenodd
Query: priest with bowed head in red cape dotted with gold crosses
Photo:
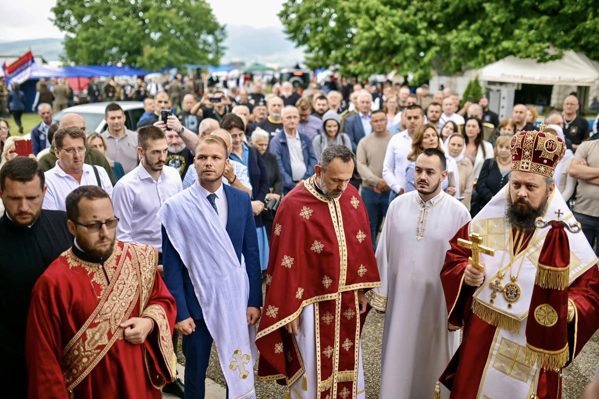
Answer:
M364 291L380 287L368 214L348 185L356 157L332 144L274 220L258 377L291 398L364 398ZM289 397L289 396L288 396Z

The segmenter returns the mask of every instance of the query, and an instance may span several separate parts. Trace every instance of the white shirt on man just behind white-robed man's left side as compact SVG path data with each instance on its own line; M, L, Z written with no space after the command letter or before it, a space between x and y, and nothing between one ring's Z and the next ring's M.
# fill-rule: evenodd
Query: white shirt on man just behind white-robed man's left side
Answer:
M383 162L383 179L395 193L406 188L406 167L410 163L408 155L411 151L412 138L407 130L389 140Z

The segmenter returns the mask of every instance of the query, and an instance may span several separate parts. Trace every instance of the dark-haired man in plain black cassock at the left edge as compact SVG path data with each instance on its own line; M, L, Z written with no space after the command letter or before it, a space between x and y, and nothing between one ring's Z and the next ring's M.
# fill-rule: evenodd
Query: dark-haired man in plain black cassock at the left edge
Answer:
M0 169L0 375L9 376L2 394L27 397L25 329L35 281L72 246L66 212L42 210L44 170L28 157ZM40 361L44 361L40 359Z

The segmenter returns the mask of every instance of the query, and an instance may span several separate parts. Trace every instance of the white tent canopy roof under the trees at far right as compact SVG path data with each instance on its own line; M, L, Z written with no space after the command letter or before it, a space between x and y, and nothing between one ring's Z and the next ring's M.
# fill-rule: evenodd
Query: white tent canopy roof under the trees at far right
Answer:
M506 83L595 86L599 84L599 62L576 51L564 51L561 59L543 63L509 56L484 68L470 69L464 75Z

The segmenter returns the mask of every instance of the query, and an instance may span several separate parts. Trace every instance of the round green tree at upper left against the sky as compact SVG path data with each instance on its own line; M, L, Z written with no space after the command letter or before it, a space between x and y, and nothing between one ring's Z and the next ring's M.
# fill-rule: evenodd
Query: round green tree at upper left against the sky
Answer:
M58 0L52 12L66 34L63 60L75 65L219 65L225 50L206 0Z

